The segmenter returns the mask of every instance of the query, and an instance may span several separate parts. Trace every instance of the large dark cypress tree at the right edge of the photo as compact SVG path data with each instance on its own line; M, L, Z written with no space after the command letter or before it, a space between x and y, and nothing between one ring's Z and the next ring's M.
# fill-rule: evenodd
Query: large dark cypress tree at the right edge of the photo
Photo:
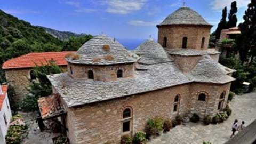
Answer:
M251 56L250 63L256 56L256 0L251 0L248 4L248 9L243 17L244 22L239 24L241 35L238 37L237 47L242 62L248 60L248 55Z

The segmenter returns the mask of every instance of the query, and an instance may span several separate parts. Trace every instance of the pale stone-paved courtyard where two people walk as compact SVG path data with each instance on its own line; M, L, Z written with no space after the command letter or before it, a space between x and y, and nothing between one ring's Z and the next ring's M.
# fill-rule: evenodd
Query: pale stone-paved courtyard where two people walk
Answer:
M256 119L256 91L244 95L236 95L233 101L230 102L230 107L233 110L232 114L224 123L207 126L202 123L179 125L148 143L202 144L203 141L209 141L212 144L225 143L230 139L231 124L235 119L238 119L238 123L245 121L246 126Z

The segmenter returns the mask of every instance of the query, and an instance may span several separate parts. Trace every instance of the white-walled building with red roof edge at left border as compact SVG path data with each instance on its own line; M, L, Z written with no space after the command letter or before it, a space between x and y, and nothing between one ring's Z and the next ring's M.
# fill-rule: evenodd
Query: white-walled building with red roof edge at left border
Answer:
M7 85L0 87L0 143L5 143L5 135L7 134L12 117L7 89Z

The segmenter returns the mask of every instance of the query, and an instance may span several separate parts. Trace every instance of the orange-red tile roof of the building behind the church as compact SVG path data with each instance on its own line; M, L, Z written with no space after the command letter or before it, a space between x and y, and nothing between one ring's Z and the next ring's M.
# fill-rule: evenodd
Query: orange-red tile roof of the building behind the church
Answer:
M74 51L73 51L74 52ZM7 60L3 64L3 69L14 69L14 68L31 68L35 67L35 63L38 66L45 65L47 62L54 60L56 65L63 66L67 65L65 56L70 53L64 52L31 52L20 57Z

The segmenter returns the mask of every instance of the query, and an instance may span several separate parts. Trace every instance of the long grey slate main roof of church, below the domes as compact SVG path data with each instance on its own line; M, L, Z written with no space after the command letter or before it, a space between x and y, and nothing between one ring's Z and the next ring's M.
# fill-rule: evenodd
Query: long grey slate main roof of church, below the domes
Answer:
M127 95L144 93L191 82L225 84L234 81L218 67L218 63L206 56L198 61L189 74L183 74L174 62L154 65L138 65L134 78L117 81L88 81L73 79L67 73L47 76L68 107L109 100Z

